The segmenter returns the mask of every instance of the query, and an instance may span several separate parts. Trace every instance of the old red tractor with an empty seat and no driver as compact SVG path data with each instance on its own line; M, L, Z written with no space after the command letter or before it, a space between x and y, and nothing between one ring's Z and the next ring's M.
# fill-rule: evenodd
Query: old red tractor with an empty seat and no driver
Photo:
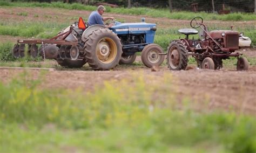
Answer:
M167 52L167 64L171 70L185 69L188 56L196 58L199 68L220 69L223 67L223 59L237 57L237 70L247 70L248 61L245 57L239 57L240 53L234 53L239 49L239 33L233 30L214 30L208 32L203 24L203 18L195 17L190 22L194 29L180 29L180 33L186 38L173 40ZM201 28L201 39L188 39L190 34L198 34L196 30ZM242 33L241 33L242 34Z

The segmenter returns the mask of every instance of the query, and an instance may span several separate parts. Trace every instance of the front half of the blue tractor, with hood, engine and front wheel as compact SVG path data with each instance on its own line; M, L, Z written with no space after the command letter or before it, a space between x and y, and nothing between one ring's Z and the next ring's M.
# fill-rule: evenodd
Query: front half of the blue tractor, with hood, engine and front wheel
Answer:
M142 52L142 62L147 67L159 66L164 61L164 57L160 55L164 53L163 49L153 44L156 24L145 23L142 19L140 23L115 22L110 29L117 34L123 45L119 64L132 64L136 59L136 52Z

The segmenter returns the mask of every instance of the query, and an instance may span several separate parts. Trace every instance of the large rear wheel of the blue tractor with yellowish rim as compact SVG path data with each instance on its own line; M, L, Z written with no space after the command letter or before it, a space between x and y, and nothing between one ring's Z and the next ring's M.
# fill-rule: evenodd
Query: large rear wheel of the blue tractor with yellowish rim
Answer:
M120 39L109 29L93 31L84 46L85 58L95 70L109 70L116 67L122 55Z

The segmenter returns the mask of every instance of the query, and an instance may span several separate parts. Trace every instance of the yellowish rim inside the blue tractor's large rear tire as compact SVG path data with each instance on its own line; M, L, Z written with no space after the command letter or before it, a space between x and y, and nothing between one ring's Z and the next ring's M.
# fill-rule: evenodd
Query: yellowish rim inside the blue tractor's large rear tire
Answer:
M96 47L96 55L100 62L111 63L117 56L116 43L110 38L100 40Z

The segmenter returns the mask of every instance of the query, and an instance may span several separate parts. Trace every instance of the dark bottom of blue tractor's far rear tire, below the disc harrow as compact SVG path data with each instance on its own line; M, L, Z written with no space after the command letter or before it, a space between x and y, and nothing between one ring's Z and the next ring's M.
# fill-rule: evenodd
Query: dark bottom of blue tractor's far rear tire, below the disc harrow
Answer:
M68 68L81 68L86 64L86 60L56 59L56 61L60 66Z

